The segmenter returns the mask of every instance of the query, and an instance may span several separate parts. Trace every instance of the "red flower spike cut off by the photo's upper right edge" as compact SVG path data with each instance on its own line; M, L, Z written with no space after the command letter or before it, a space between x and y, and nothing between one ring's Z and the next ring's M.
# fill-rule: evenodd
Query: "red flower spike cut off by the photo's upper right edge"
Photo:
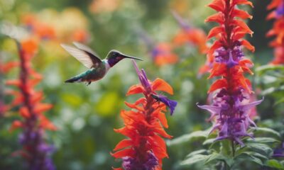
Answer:
M284 1L273 0L267 6L268 10L272 11L267 19L275 19L273 28L268 31L267 36L274 36L275 39L270 42L271 47L274 47L274 60L271 64L284 64Z

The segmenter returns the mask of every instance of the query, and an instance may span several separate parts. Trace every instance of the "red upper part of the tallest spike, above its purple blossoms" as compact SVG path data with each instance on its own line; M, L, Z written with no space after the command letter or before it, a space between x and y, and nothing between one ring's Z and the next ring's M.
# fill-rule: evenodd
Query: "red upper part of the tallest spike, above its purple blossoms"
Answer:
M209 77L224 77L224 79L215 81L209 92L222 88L234 91L239 87L250 91L249 80L244 78L243 73L252 74L249 69L252 62L242 58L244 54L240 47L244 46L254 51L254 47L247 40L242 40L246 34L253 32L244 21L236 19L236 17L245 19L252 18L252 16L246 11L235 8L238 4L253 6L247 0L214 0L212 4L209 4L209 7L218 13L209 16L205 21L219 23L219 26L212 28L207 36L207 38L215 37L217 39L208 50L209 62L215 62Z

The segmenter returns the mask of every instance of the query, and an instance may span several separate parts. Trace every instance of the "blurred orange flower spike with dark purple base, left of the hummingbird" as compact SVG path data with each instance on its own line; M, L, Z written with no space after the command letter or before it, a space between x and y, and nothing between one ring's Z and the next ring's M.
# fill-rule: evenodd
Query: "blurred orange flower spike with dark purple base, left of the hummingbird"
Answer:
M50 110L52 105L42 103L43 92L35 91L35 86L43 78L31 68L31 60L37 47L33 39L18 42L20 76L18 79L6 81L6 84L19 89L19 91L8 91L8 94L15 96L9 108L19 106L22 120L14 120L11 130L16 128L23 130L19 136L23 149L16 153L26 159L28 169L53 170L55 167L50 154L54 151L54 147L45 142L44 135L45 130L57 128L43 115L43 112Z

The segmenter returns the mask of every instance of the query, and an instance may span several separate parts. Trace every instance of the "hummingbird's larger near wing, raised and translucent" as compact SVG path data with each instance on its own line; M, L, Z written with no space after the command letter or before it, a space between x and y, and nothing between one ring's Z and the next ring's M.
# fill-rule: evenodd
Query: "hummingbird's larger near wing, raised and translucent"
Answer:
M72 47L70 45L61 44L61 46L89 69L91 69L94 65L102 64L102 60L94 56L91 52L80 50L79 48Z

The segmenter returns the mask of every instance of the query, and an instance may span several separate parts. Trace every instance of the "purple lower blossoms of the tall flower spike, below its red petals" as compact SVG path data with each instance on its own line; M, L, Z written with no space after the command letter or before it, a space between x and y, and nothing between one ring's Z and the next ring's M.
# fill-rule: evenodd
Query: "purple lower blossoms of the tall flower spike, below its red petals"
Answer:
M200 106L197 104L199 108L211 113L209 120L214 120L211 132L219 130L216 140L231 139L244 146L240 138L245 136L253 137L252 134L247 132L249 126L256 126L253 120L249 118L249 110L260 104L263 99L242 104L241 101L244 101L245 98L239 93L226 94L226 90L222 89L214 98L213 106Z

